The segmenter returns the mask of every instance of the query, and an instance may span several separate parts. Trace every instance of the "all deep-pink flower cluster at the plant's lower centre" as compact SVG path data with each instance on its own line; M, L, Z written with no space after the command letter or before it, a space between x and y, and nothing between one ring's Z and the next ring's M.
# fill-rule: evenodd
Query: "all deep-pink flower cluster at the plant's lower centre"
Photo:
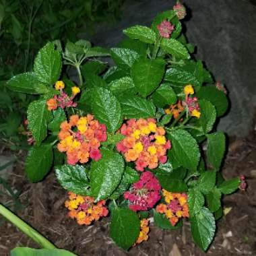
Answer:
M154 207L160 200L161 186L152 172L143 172L139 181L131 186L130 191L124 193L128 199L129 208L133 211L146 211Z

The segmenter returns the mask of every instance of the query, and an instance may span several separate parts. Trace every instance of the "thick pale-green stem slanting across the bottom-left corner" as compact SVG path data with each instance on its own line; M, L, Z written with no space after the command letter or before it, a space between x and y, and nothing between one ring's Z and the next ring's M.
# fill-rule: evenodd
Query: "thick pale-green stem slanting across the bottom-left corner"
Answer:
M50 241L48 241L42 234L34 230L31 226L26 224L21 218L18 216L15 216L11 211L9 211L7 208L5 208L3 205L0 204L0 214L3 215L3 217L7 218L9 222L13 223L15 226L17 226L24 234L27 236L30 236L40 247L44 249L55 249L55 245L53 245Z

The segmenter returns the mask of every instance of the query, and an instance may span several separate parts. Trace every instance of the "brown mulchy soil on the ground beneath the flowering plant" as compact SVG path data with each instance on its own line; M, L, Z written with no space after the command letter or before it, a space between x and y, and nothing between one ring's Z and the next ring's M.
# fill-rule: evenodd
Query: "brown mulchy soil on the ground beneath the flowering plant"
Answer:
M244 174L247 191L238 191L224 198L224 207L230 212L218 222L214 243L207 254L195 247L189 231L189 222L180 230L168 231L150 224L150 239L133 247L128 253L119 249L108 236L109 218L93 226L79 226L67 218L63 206L66 191L60 187L53 173L42 183L30 184L24 178L24 163L18 162L10 176L11 187L20 189L24 208L18 215L44 234L61 249L77 255L256 255L256 141L255 136L234 139L230 143L224 164L226 178ZM9 200L1 195L1 203ZM0 220L1 217L0 217ZM9 255L14 247L38 246L12 224L1 222L0 255Z

